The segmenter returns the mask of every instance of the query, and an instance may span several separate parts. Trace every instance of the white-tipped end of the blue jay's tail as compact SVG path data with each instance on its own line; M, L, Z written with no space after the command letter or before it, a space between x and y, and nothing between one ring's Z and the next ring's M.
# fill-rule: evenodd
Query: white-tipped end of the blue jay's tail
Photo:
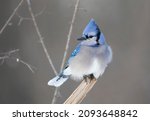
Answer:
M67 81L68 77L63 77L63 76L56 76L53 79L51 79L48 82L48 85L50 86L55 86L55 87L59 87L61 86L65 81Z

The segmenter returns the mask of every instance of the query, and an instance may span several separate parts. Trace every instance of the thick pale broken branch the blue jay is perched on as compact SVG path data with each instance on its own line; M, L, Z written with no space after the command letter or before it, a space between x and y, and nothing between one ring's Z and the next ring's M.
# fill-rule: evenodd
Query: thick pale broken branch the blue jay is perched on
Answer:
M86 97L88 92L95 85L96 79L83 80L81 84L75 89L70 97L64 102L64 104L79 104Z

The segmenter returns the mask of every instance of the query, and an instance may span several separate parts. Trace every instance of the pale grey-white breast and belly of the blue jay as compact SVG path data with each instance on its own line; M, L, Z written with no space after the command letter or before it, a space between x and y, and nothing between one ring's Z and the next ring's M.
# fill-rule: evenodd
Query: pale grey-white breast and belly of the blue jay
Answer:
M83 47L80 53L70 61L71 77L74 80L81 80L85 75L94 74L94 77L98 78L104 73L107 64L111 61L110 58L112 54L106 46Z

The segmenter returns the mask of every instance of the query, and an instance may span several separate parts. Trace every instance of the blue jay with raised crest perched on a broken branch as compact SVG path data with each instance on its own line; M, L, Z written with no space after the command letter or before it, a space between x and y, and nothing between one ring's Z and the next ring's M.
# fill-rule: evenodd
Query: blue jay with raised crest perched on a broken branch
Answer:
M85 77L98 78L112 60L111 47L106 43L94 19L85 27L81 41L70 55L64 70L48 82L48 85L59 87L69 77L82 80Z

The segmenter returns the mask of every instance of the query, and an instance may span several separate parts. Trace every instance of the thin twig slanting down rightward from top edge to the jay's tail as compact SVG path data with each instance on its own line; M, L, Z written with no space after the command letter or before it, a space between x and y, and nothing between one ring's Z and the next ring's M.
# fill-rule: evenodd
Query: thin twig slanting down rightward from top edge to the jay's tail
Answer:
M27 4L28 4L28 9L29 9L29 12L30 12L30 14L31 14L34 27L35 27L36 32L37 32L37 34L38 34L38 37L39 37L39 39L40 39L40 43L41 43L41 45L42 45L42 48L43 48L43 50L44 50L44 52L45 52L45 55L46 55L46 57L47 57L47 59L48 59L48 62L49 62L49 64L50 64L50 66L52 67L52 69L53 69L55 75L57 75L57 71L56 71L56 69L55 69L55 67L54 67L54 65L53 65L53 62L52 62L52 60L51 60L50 55L48 54L48 51L47 51L46 46L45 46L44 41L43 41L43 37L42 37L42 35L41 35L41 33L40 33L39 27L38 27L37 22L36 22L36 20L35 20L35 16L34 16L34 14L33 14L32 7L31 7L31 1L30 1L30 0L26 0L26 1L27 1Z

